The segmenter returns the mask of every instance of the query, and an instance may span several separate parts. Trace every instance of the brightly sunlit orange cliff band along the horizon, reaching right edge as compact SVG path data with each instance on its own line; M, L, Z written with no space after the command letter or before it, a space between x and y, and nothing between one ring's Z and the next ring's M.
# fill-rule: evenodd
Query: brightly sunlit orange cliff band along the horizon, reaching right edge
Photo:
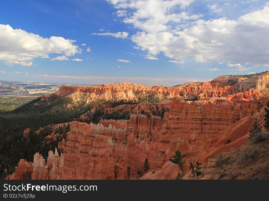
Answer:
M146 86L134 83L112 83L99 86L71 87L62 85L55 94L69 96L77 101L137 101L147 95L160 99L205 100L208 98L227 97L239 92L254 91L268 92L269 73L255 75L249 78L236 76L219 76L210 82L187 83L176 87ZM247 98L248 99L248 98Z

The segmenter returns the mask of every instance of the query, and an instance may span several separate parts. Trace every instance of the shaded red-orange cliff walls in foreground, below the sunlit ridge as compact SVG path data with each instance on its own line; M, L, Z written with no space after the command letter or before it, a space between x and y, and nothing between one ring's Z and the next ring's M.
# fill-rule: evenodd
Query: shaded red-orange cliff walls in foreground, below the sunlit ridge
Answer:
M245 143L245 140L238 139L247 134L254 117L261 114L257 112L258 100L234 100L191 102L172 99L170 112L165 113L163 119L133 114L130 120L101 120L98 124L89 125L70 122L72 129L63 150L64 161L60 162L63 156L53 155L52 151L46 164L39 154L35 155L32 178L115 179L116 164L120 167L118 178L123 179L127 177L127 166L131 167L131 175L136 175L137 169L142 171L145 158L149 159L151 170L162 170L164 174L160 178L170 178L177 172L177 167L170 164L169 158L178 149L187 154L187 170L188 164L197 158L206 163L207 158L201 158L202 155L212 157L219 153L214 150L226 150L218 147L227 146L228 139L228 146ZM253 117L252 110L255 113ZM245 129L238 134L240 129L231 129L237 127ZM174 173L169 176L165 171L171 169ZM155 178L157 175L160 174L142 178Z

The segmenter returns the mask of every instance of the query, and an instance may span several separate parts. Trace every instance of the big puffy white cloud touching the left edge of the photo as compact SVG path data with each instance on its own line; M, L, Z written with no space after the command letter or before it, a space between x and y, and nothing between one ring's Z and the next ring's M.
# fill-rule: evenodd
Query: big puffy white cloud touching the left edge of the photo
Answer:
M0 60L7 65L32 65L35 58L49 58L48 54L58 53L71 56L81 53L75 40L51 36L43 38L10 25L0 24Z

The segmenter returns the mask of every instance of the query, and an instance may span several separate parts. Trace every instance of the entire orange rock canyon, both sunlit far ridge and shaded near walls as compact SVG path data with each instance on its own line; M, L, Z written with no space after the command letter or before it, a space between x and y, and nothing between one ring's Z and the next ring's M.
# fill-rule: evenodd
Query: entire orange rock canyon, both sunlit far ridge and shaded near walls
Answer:
M188 172L190 163L198 160L205 165L208 158L244 145L254 121L264 124L268 87L269 73L249 78L219 76L175 87L61 86L55 95L70 97L75 103L95 102L83 118L99 109L105 114L128 113L129 118L101 119L96 124L71 121L66 141L59 142L54 153L49 151L48 158L35 153L33 162L21 159L9 178L127 179L127 167L131 167L131 179L175 179L179 168L169 158L176 150L186 154L184 172ZM159 102L142 102L152 97ZM106 103L120 100L133 103L115 107ZM163 115L154 115L160 111ZM56 138L54 131L48 138ZM28 132L26 128L24 137ZM138 169L144 173L146 158L150 169L137 177ZM116 174L115 166L119 167Z

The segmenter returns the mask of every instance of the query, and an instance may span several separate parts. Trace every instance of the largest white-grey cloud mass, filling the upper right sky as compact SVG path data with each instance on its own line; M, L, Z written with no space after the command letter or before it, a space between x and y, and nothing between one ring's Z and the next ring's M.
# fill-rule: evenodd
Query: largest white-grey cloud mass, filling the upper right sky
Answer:
M123 22L139 29L130 38L148 54L163 52L174 60L193 57L197 62L269 63L269 2L237 19L201 20L201 15L184 11L193 1L107 1L127 11Z

